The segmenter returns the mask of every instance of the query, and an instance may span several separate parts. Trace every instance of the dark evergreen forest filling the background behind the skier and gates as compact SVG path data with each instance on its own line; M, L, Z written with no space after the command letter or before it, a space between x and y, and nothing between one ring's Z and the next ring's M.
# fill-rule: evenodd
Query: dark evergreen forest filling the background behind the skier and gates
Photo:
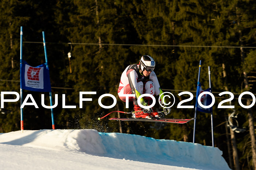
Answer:
M45 31L53 101L54 94L59 95L59 104L54 108L57 129L96 129L192 142L193 122L169 123L157 128L154 123L97 118L113 110L131 111L132 104L125 108L117 89L123 70L138 63L142 55L155 59L154 71L161 88L176 97L176 105L166 117L193 118L194 109L175 107L189 97L178 93L190 91L195 96L199 60L202 60L200 82L203 89L208 88L207 66L210 66L216 98L215 147L223 151L231 169L254 169L255 106L242 108L238 96L244 91L256 93L255 13L253 0L1 0L0 89L19 92L20 26L23 26L23 59L34 67L45 63L42 44ZM80 91L97 94L86 95L93 101L83 102L84 107L79 108ZM229 98L218 95L223 91L235 95L231 104L239 114L238 122L233 124L244 127L244 133L235 133L227 126L232 109L217 108L219 102ZM50 110L41 106L42 93L24 91L26 94L33 95L39 109L25 106L25 130L51 129ZM62 108L61 94L66 96L66 105L77 108ZM100 107L98 98L102 94L116 96L116 106ZM45 93L45 103L49 106L48 96ZM251 102L251 96L243 96L243 104ZM102 104L112 103L111 98L102 99ZM194 105L195 97L185 104ZM20 102L5 103L4 108L0 132L19 130ZM211 146L210 124L210 114L197 114L196 143Z

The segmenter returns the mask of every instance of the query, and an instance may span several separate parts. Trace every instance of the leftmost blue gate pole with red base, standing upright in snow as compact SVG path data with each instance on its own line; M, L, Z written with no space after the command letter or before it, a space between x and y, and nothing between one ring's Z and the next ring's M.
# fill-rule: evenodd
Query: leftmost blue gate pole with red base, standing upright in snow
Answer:
M23 90L22 90L22 84L21 84L21 66L22 66L22 38L23 38L23 27L20 27L20 106L22 105L22 99L23 99ZM23 124L23 108L20 107L20 130L21 133L23 133L24 130L24 124Z

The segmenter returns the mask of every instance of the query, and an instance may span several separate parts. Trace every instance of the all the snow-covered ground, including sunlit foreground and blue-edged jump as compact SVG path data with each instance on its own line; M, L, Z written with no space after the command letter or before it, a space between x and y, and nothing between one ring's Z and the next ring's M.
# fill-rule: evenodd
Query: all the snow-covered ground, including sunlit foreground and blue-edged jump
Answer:
M25 130L0 134L0 169L227 170L210 146L96 130Z

